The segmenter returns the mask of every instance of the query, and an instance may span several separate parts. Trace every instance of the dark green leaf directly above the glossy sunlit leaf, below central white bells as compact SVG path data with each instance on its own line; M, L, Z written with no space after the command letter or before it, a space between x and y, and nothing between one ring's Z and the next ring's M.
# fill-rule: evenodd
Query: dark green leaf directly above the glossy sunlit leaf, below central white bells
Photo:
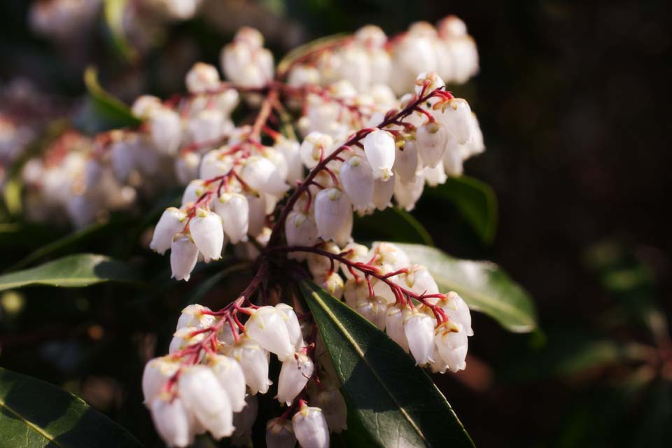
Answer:
M434 241L423 225L407 211L388 207L368 216L357 216L354 225L356 239L372 241L388 239L404 243L433 246Z

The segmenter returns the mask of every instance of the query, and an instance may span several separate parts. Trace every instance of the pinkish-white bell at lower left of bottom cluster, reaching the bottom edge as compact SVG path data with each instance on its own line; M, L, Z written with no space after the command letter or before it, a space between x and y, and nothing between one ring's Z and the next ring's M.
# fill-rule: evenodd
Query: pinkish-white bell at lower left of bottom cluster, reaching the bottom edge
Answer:
M193 442L193 418L179 397L158 398L150 405L156 432L169 447L187 447Z

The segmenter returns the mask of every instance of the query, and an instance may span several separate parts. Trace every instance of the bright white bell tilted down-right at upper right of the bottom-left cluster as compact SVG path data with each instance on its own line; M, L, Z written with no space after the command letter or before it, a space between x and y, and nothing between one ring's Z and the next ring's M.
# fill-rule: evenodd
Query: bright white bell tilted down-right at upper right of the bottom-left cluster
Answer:
M259 307L245 323L246 334L264 349L275 353L279 360L294 355L294 346L285 325L287 316L274 307Z

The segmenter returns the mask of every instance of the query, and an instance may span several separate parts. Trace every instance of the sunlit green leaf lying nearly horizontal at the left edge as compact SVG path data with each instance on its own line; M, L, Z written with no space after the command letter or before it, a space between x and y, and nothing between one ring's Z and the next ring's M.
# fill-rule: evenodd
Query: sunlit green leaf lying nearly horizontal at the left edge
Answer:
M80 253L0 275L0 290L31 285L81 288L106 281L141 284L137 271L123 262L104 255Z

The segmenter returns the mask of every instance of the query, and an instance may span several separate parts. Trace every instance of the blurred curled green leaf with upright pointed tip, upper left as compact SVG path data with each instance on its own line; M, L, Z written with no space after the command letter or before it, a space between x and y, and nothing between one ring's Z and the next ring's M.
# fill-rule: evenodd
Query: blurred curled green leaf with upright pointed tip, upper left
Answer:
M89 66L84 71L84 83L88 92L87 104L76 117L80 130L89 134L103 132L118 127L139 126L139 120L120 99L113 97L98 82L96 67Z

